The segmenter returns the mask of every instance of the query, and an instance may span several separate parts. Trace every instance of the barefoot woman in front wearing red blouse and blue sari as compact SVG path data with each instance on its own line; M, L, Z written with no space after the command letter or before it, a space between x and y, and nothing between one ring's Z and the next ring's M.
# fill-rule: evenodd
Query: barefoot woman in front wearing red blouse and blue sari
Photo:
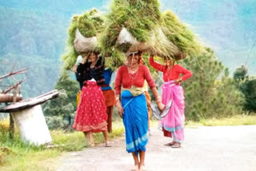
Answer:
M163 109L164 105L158 96L150 71L146 66L140 65L138 53L129 54L128 64L118 69L114 89L118 114L123 118L126 128L126 150L128 153L132 153L136 170L143 170L145 167L144 160L148 140L148 115L143 89L145 80L157 99L158 108Z

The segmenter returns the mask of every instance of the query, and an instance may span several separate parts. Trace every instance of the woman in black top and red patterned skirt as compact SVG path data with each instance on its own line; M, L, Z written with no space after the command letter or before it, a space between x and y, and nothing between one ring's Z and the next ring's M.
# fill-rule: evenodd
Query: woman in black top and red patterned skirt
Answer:
M103 77L104 64L102 57L98 58L96 53L91 52L89 59L90 62L87 58L83 58L77 69L84 82L73 128L82 131L87 136L91 147L94 146L93 133L102 132L106 147L108 147L111 145L107 135L106 105L101 88L105 82Z

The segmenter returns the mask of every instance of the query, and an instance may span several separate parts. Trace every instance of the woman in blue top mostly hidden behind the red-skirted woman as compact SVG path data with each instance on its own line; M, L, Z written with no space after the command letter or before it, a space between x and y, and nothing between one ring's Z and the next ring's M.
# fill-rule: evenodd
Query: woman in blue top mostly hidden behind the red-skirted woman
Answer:
M102 93L105 98L106 114L107 114L107 131L112 133L112 115L113 105L115 105L114 91L111 89L110 80L112 71L109 68L105 68L103 73L105 82L102 85Z

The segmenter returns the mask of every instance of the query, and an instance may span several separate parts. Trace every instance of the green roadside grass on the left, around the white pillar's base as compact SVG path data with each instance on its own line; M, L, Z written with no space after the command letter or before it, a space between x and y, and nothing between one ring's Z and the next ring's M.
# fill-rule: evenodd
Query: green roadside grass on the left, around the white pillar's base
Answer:
M15 132L14 139L10 139L8 129L9 122L0 121L0 170L2 171L56 170L55 166L58 165L56 157L89 146L82 132L52 130L50 134L53 144L58 146L46 148L43 145L36 146L23 142L18 131ZM114 122L113 133L109 134L110 140L120 137L122 133L124 133L122 122ZM104 142L102 133L94 133L94 141L96 144Z

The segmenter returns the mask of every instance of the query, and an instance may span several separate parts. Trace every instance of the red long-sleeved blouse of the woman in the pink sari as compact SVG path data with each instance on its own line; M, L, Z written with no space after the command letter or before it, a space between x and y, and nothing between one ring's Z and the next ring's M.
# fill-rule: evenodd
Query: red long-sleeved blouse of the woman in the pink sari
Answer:
M154 58L150 58L150 66L153 66L156 70L162 71L164 82L177 80L180 74L183 74L182 81L186 81L187 78L192 77L192 72L190 70L186 70L178 64L174 65L171 70L167 70L166 66L158 64L157 62L154 62Z

